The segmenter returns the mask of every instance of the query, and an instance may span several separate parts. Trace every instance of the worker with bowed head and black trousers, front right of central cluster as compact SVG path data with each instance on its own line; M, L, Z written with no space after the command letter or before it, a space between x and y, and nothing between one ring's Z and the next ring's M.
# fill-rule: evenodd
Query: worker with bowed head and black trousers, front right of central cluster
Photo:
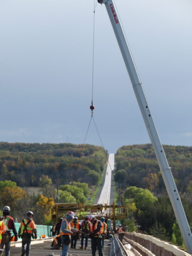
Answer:
M96 256L96 251L98 249L99 256L103 256L102 250L102 233L103 226L100 220L97 220L94 215L89 215L89 221L91 222L91 250L92 256Z

